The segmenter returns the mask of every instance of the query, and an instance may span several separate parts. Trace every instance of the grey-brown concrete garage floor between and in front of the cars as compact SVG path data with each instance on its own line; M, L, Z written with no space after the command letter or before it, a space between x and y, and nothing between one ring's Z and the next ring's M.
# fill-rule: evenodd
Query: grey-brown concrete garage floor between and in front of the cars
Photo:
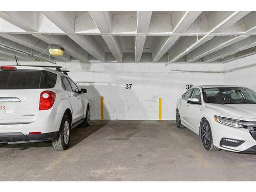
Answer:
M207 152L174 121L92 121L71 148L51 143L0 147L1 181L250 181L256 156Z

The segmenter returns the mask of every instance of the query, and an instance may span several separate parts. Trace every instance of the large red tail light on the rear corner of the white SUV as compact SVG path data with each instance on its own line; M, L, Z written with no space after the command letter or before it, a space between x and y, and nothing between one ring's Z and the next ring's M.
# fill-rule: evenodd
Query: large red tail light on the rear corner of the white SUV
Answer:
M52 108L56 94L52 91L43 91L40 94L39 110L49 110Z

